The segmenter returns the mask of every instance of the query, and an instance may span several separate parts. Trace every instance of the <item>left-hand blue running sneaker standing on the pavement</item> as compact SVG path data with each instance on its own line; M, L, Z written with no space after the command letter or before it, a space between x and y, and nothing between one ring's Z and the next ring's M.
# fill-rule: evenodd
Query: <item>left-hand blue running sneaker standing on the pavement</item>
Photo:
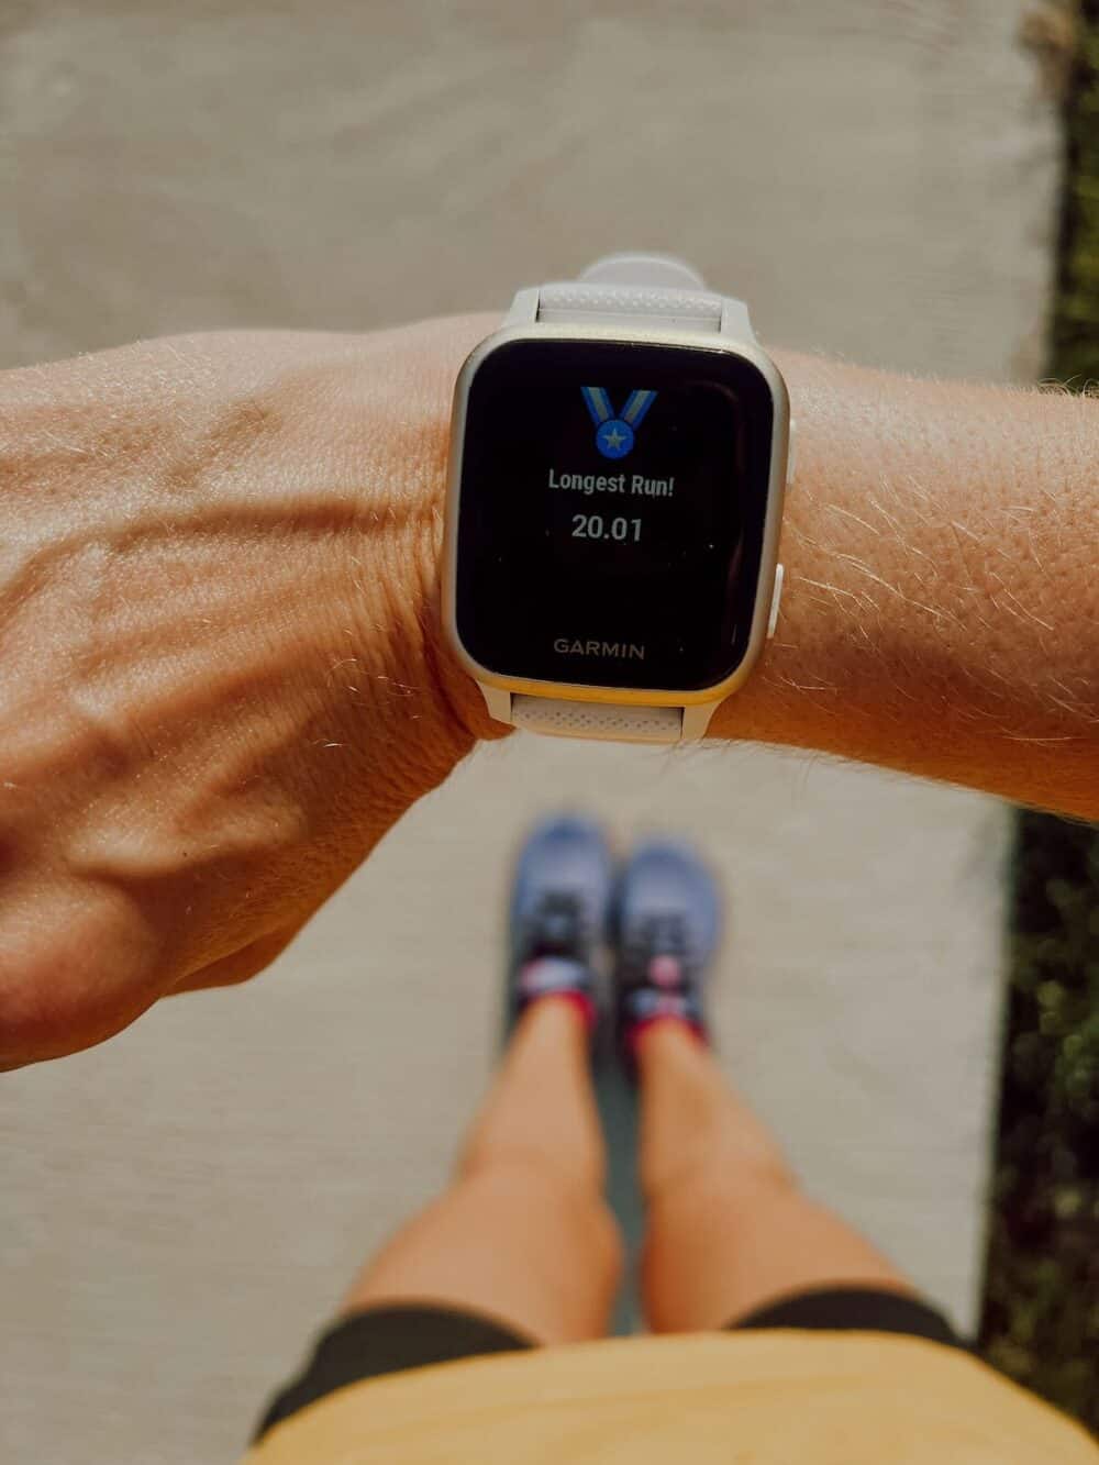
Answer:
M576 1002L595 1028L613 892L614 861L595 823L563 816L538 825L511 885L511 1026L533 1001L555 995Z

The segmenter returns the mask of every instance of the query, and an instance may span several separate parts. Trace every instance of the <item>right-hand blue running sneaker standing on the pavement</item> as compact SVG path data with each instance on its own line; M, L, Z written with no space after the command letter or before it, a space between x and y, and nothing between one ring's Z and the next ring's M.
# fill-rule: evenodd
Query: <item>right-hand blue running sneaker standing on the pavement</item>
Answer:
M627 1069L636 1067L637 1036L662 1018L684 1023L708 1043L702 996L721 895L689 845L652 839L634 850L618 885L614 929L614 1027Z

